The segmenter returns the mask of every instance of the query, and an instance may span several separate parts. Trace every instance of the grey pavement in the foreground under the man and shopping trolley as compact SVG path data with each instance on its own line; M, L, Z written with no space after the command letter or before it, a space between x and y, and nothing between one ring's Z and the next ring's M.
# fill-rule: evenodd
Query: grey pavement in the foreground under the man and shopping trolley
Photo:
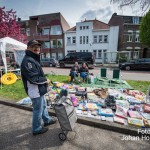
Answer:
M0 105L0 150L148 150L150 141L123 141L123 134L76 124L77 135L62 142L58 138L60 127L49 127L45 134L32 136L32 112Z

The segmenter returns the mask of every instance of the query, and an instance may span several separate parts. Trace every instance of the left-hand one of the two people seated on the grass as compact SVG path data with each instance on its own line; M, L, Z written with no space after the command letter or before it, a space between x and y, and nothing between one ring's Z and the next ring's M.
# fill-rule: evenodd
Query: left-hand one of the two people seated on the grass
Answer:
M78 66L78 62L75 62L74 66L71 68L70 70L70 76L71 76L71 81L73 81L73 79L76 79L76 77L78 76L78 73L80 71L80 68Z

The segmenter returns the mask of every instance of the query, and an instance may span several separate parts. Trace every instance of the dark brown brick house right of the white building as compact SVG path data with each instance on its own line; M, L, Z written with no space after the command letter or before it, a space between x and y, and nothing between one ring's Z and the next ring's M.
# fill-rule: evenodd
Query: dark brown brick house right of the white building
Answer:
M140 43L139 26L142 17L122 16L114 13L109 20L110 26L119 26L118 51L130 52L131 59L149 58L150 49Z

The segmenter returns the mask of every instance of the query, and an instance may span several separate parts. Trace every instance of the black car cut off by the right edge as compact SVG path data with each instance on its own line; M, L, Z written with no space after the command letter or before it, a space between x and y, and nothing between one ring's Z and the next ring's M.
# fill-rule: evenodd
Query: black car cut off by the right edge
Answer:
M119 64L124 70L150 70L150 58L142 58Z

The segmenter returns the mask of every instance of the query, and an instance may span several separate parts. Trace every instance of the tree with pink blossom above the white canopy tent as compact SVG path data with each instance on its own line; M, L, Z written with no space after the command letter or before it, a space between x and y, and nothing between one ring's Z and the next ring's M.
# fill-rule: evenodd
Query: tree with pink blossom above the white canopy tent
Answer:
M11 37L25 43L27 36L21 34L21 28L16 22L17 16L15 14L13 9L5 11L5 7L0 7L0 38Z

